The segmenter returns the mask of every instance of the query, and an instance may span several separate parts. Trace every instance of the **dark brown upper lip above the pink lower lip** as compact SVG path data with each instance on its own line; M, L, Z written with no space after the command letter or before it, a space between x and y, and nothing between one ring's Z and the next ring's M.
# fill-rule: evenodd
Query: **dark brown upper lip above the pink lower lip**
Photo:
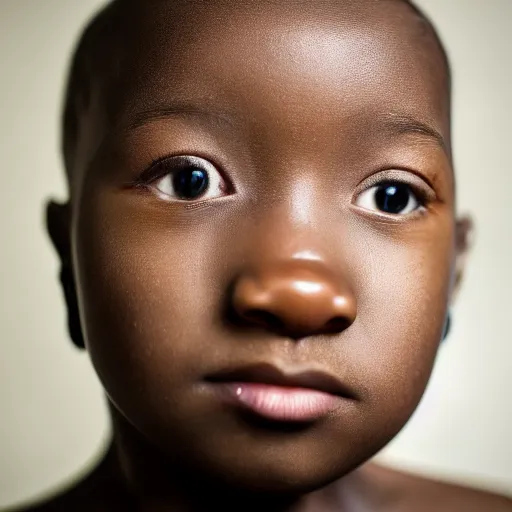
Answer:
M343 398L357 399L355 393L336 377L317 370L288 373L268 363L225 369L209 375L209 382L253 382L323 391Z

